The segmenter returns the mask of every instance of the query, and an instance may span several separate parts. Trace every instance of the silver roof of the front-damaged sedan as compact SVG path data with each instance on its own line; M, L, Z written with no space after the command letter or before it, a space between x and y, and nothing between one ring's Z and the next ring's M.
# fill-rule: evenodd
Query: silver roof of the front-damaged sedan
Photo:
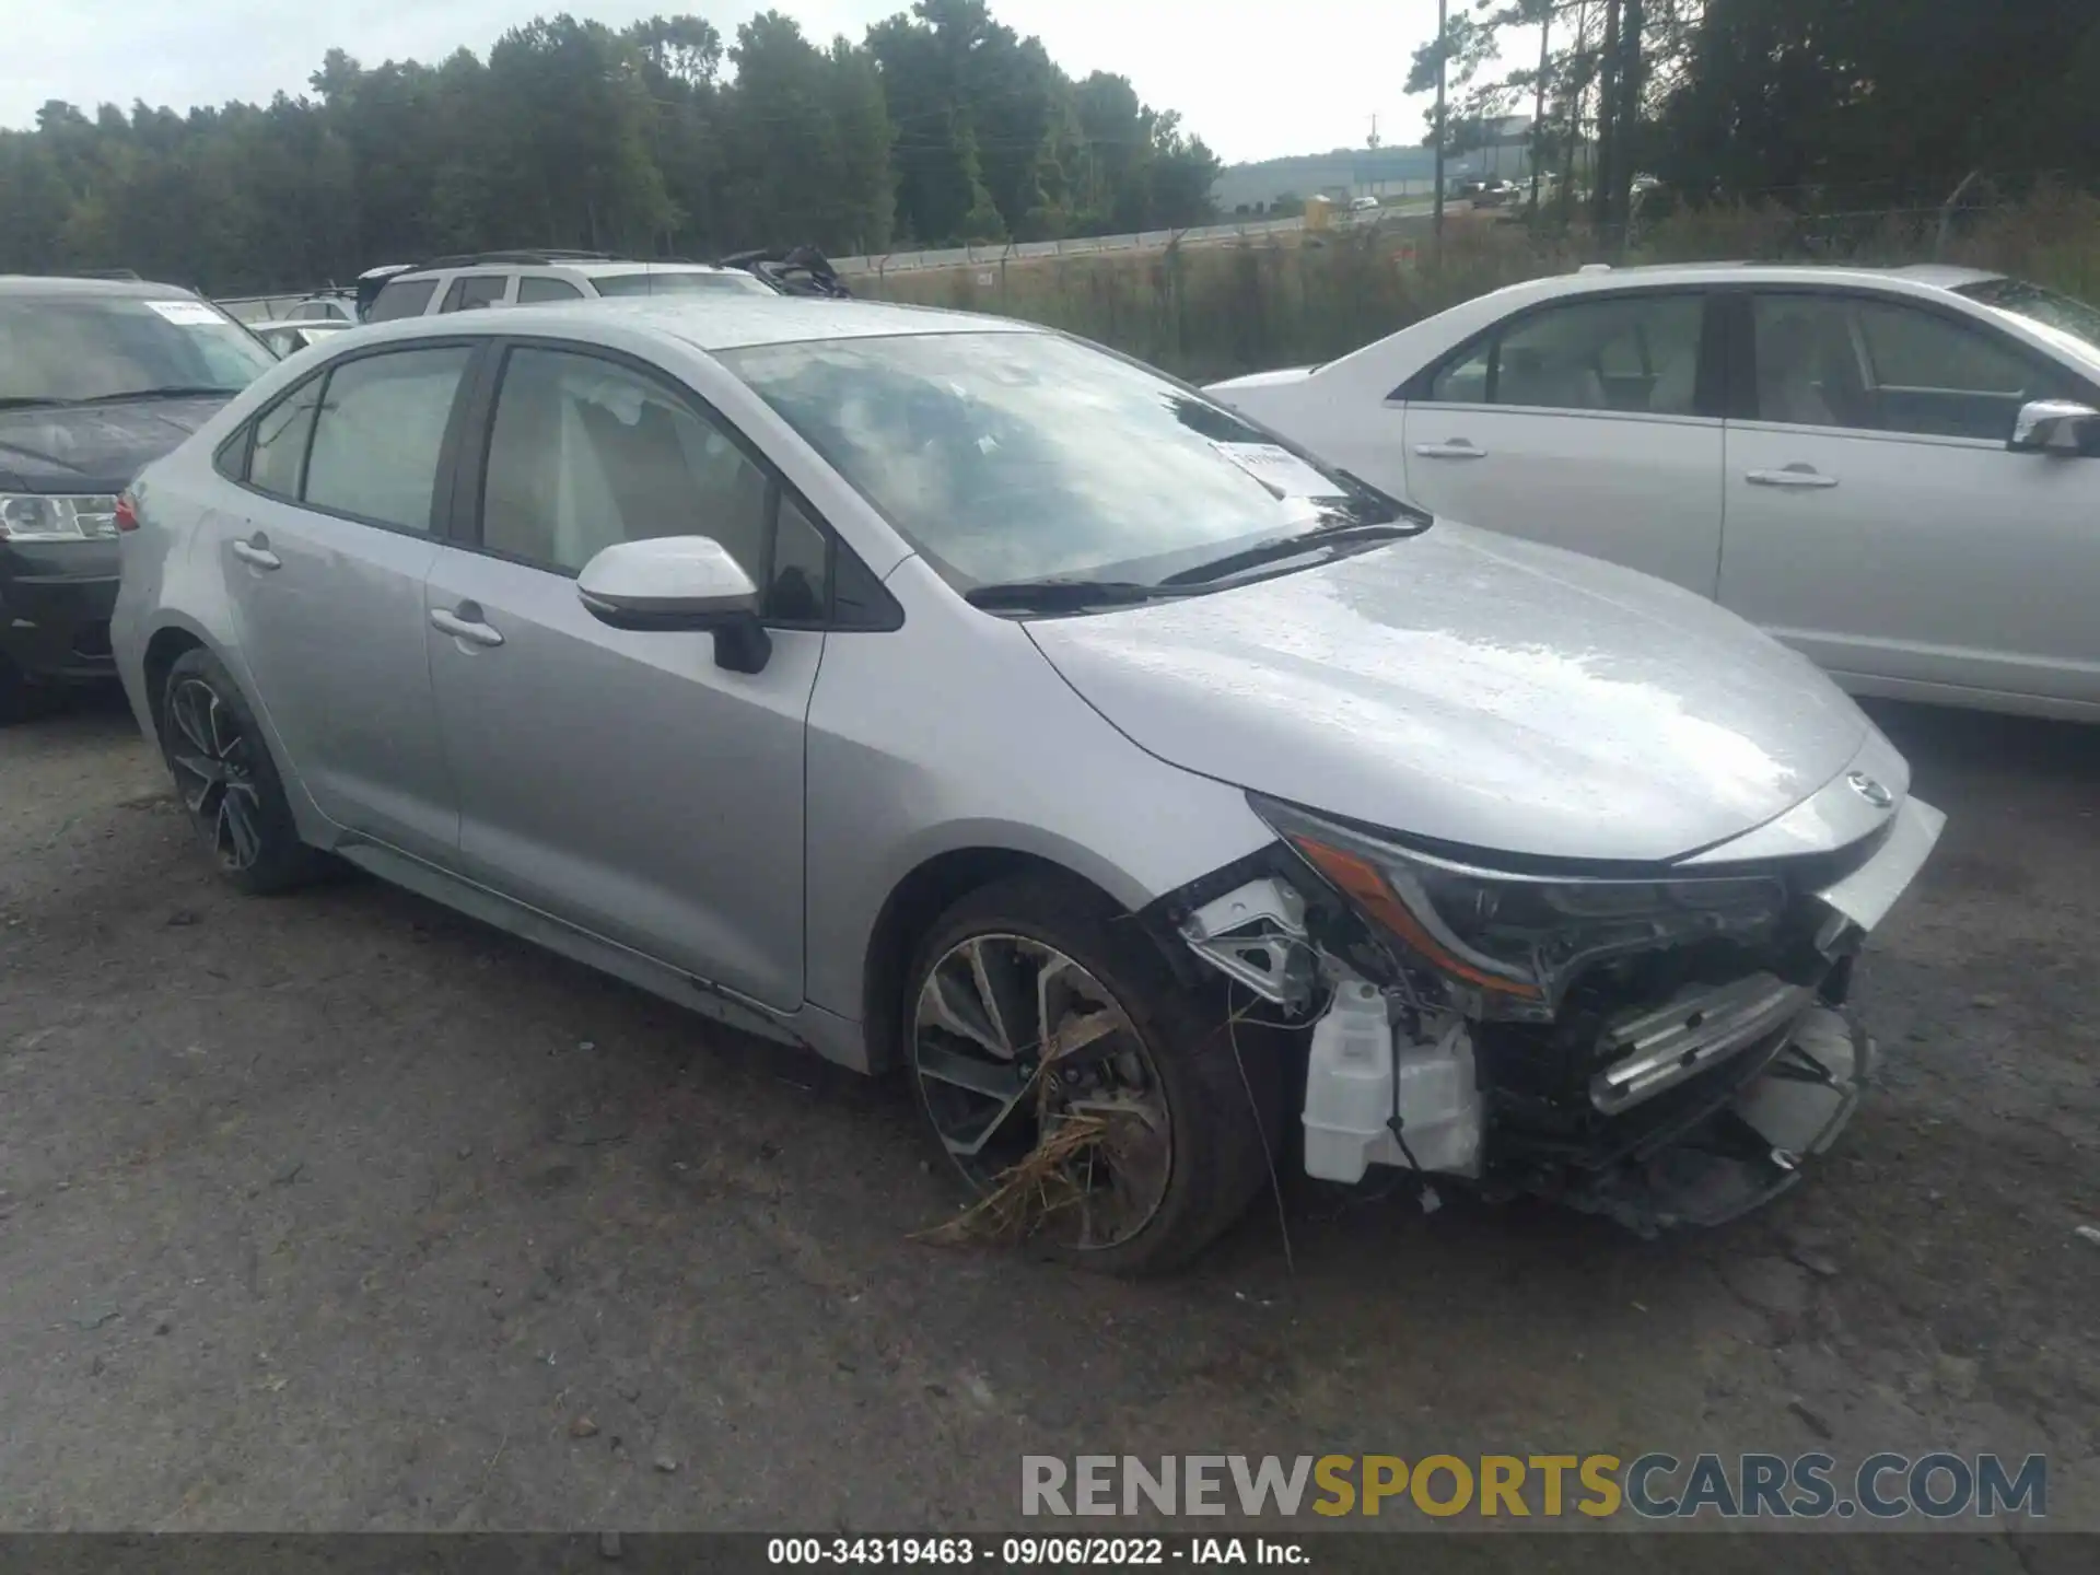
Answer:
M802 344L825 338L899 338L907 334L1044 334L1040 323L985 317L970 311L897 307L886 300L823 300L815 296L678 294L628 296L620 300L559 302L531 309L477 309L437 317L397 317L365 323L359 342L386 338L456 336L462 330L489 334L573 332L590 338L590 328L620 323L680 338L701 351L746 351L758 344Z

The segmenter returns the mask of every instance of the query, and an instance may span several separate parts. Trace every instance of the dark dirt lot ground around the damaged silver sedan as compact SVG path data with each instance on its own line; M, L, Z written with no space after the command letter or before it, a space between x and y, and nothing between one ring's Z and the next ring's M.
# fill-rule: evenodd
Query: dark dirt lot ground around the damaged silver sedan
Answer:
M1659 1243L1300 1184L1294 1266L1262 1210L1155 1285L918 1243L901 1090L368 880L231 897L122 708L15 729L0 1525L993 1529L1023 1451L1827 1445L2045 1451L2100 1529L2100 729L1884 724L1953 821L1821 1176Z

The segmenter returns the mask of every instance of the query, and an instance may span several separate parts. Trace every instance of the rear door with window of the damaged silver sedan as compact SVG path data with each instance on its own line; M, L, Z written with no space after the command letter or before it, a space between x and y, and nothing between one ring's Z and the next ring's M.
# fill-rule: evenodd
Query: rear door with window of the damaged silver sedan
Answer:
M422 582L468 342L334 361L254 420L244 519L214 542L256 699L328 819L449 863Z

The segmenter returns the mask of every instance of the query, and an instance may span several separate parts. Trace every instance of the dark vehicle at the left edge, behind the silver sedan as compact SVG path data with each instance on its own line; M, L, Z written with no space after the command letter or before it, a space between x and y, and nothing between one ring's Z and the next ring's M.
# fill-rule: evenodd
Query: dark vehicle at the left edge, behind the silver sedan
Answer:
M0 722L116 676L118 494L273 363L178 286L0 275Z

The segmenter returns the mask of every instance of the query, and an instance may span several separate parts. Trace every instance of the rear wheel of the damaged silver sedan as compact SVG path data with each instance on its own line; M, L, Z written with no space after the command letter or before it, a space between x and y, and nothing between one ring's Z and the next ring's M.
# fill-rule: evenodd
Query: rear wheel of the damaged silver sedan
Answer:
M321 855L298 840L254 712L218 657L202 647L168 668L160 748L197 836L231 886L262 897L319 872Z

